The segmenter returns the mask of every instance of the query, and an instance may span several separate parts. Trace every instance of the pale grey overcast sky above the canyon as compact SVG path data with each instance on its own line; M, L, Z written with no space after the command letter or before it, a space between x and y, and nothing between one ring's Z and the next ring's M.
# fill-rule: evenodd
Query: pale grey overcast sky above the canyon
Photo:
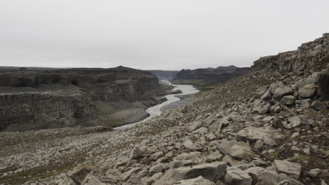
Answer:
M0 65L246 67L329 32L328 0L0 0Z

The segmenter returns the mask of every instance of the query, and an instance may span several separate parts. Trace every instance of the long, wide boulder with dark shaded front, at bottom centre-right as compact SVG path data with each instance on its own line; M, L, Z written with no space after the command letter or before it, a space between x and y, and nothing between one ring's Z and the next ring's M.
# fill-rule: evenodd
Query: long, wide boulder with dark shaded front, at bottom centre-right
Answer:
M202 176L205 179L214 181L223 177L225 172L226 163L224 162L205 163L193 167L179 167L174 169L174 179L175 181L180 181Z

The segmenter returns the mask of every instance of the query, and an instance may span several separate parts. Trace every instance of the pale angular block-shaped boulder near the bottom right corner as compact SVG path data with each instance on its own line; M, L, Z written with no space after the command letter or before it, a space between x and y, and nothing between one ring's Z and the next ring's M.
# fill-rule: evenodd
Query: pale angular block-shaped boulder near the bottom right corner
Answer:
M289 177L299 179L302 166L298 163L291 163L286 160L274 160L278 172L288 174Z

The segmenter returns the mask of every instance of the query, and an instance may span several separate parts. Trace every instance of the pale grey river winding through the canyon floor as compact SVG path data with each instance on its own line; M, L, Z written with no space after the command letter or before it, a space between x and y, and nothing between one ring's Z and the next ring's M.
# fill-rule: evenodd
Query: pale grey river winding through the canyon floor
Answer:
M160 114L162 113L162 111L161 111L162 107L164 107L167 104L171 104L172 102L177 102L177 101L181 100L181 99L179 99L179 97L176 97L177 95L191 95L191 94L195 94L195 93L199 92L199 90L194 88L193 85L173 85L173 86L175 86L175 88L173 90L181 90L182 93L174 94L174 95L166 95L165 97L167 98L167 101L162 102L161 104L157 104L153 107L149 107L148 109L146 109L146 112L148 114L150 114L150 116L143 119L142 121L138 121L136 123L130 123L130 124L127 124L127 125L122 125L120 127L114 128L114 129L115 130L120 130L122 128L128 128L128 127L131 127L131 126L136 125L138 123L143 123L145 121L148 121L151 118L154 118L156 116L160 116Z

